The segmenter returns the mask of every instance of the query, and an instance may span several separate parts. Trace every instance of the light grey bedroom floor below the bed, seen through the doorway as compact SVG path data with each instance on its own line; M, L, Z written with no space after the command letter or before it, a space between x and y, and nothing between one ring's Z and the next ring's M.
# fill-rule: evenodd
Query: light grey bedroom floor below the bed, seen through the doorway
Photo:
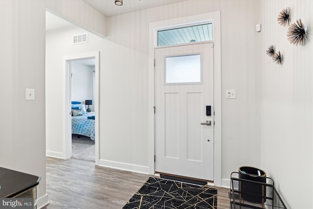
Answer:
M90 137L72 134L72 158L94 162L94 146Z

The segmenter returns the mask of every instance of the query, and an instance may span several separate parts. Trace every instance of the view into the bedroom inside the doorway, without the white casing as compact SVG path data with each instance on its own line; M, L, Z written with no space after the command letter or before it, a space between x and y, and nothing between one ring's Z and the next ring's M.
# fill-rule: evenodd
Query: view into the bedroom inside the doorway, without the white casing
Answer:
M95 162L95 59L70 61L72 157Z

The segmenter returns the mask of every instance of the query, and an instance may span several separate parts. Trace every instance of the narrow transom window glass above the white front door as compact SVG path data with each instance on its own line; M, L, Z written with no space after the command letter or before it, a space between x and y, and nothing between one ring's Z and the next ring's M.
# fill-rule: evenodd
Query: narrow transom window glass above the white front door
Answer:
M157 46L212 41L212 23L157 30Z

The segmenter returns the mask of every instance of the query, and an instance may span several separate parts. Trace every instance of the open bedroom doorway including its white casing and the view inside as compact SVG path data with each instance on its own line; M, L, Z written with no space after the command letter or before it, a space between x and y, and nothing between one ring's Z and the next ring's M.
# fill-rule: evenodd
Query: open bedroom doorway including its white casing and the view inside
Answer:
M99 164L99 51L63 57L66 73L65 159Z

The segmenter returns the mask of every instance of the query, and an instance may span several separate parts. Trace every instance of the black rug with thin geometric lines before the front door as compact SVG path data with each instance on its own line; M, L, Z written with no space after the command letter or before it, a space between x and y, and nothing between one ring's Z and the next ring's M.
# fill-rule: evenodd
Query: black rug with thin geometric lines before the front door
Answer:
M123 209L217 209L217 189L150 177Z

